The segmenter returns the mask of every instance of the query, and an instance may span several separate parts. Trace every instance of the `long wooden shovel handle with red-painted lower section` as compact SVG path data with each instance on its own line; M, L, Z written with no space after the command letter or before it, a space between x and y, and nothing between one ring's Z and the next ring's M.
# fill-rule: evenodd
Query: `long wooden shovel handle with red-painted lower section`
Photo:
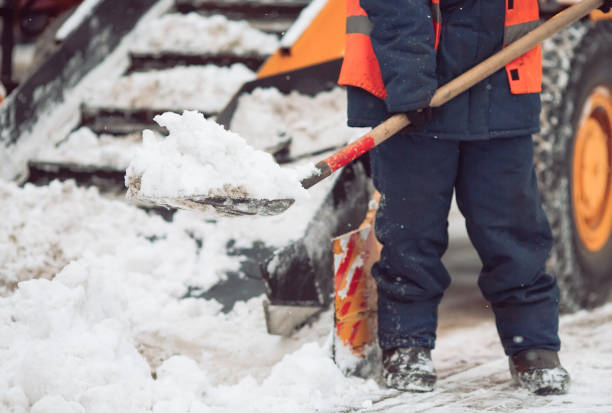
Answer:
M485 61L440 87L436 90L436 93L431 99L430 106L442 106L478 82L491 76L517 57L533 49L553 34L559 32L573 22L580 20L602 4L603 0L582 0L580 3L556 14L554 17L538 26L538 28L527 33ZM366 135L317 163L315 165L316 170L310 176L302 180L302 186L306 189L310 188L314 184L327 178L334 171L342 168L373 147L381 144L408 125L410 125L410 121L405 114L398 113L391 116Z

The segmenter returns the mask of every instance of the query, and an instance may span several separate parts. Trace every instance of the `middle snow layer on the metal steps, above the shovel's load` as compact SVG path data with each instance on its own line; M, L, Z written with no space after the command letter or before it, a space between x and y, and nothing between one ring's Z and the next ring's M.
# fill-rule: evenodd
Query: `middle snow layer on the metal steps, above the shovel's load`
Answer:
M168 70L132 73L100 82L88 93L91 106L221 110L255 73L237 63L231 67L179 66Z

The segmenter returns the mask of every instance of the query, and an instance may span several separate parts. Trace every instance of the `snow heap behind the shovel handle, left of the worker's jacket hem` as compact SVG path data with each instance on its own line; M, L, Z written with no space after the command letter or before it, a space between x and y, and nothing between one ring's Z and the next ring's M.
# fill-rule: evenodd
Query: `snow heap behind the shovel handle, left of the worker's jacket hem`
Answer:
M365 131L349 128L346 122L342 88L314 97L259 88L240 97L231 130L259 149L291 138L290 155L296 157L344 145Z

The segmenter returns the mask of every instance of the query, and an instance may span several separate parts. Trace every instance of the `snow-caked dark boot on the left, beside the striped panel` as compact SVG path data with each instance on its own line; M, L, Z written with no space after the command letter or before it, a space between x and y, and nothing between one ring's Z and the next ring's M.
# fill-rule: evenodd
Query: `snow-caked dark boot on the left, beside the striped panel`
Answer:
M427 392L436 384L431 350L425 347L399 347L383 351L385 383L397 390Z

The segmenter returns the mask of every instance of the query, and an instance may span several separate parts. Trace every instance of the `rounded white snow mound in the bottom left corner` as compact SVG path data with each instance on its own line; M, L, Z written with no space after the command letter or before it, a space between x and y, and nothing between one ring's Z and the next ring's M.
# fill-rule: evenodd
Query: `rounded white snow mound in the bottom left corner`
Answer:
M188 357L169 356L154 380L133 338L142 327L134 324L139 312L159 316L155 308L169 303L145 293L137 273L114 270L103 262L73 263L53 281L24 282L0 299L3 406L46 413L204 411L198 399L210 386L206 372Z

